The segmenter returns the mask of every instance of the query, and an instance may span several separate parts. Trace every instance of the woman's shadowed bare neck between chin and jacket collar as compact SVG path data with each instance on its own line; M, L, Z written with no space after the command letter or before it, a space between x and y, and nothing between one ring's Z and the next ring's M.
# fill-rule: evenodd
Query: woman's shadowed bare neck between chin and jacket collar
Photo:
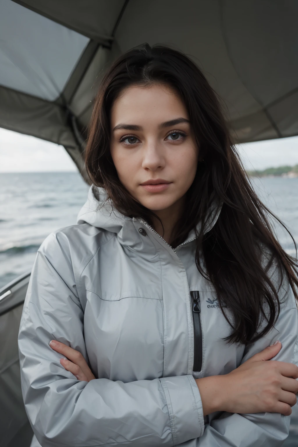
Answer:
M176 223L180 219L183 207L184 197L181 197L177 202L173 203L170 207L164 210L154 211L155 215L159 217L152 217L152 223L155 231L163 237L163 239L171 245L172 235ZM160 222L161 221L161 222Z

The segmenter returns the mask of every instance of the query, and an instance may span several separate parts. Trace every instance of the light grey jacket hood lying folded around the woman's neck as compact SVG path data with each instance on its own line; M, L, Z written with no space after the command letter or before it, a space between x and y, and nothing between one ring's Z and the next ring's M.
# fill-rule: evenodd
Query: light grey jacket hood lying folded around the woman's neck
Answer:
M99 200L94 196L93 189L97 189ZM92 185L88 192L87 202L81 208L77 223L89 223L93 227L103 228L113 233L119 233L125 226L125 223L132 222L139 219L131 219L115 210L109 201L105 202L107 198L104 188L95 187ZM222 209L222 203L213 202L210 207L209 217L206 224L205 233L210 231L214 227L220 211ZM201 228L201 223L198 224L197 230ZM195 231L191 231L187 240L193 239Z

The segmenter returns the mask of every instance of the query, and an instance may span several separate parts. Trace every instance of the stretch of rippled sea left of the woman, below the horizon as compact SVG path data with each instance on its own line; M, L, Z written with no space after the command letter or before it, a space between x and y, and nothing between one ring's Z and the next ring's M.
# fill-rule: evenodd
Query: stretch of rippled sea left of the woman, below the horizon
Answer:
M46 236L76 223L87 194L79 173L0 174L0 288L31 270Z

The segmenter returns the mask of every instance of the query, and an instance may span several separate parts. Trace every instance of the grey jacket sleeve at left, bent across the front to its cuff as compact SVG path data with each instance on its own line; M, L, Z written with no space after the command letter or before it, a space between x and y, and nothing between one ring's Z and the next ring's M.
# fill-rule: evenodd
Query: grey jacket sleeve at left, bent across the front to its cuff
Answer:
M130 383L79 381L59 363L52 339L86 361L84 312L67 238L50 235L31 274L19 332L25 408L42 447L172 446L201 436L204 422L191 375Z

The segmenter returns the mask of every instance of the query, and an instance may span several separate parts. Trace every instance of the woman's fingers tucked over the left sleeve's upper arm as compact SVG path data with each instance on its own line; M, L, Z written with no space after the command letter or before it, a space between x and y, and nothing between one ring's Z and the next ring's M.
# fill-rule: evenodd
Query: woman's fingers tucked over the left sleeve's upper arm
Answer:
M54 351L59 352L59 354L67 357L60 358L60 363L67 371L70 371L73 375L75 375L78 380L90 382L90 380L95 379L86 360L79 351L70 348L64 343L57 342L57 340L52 340L50 342L50 347Z

